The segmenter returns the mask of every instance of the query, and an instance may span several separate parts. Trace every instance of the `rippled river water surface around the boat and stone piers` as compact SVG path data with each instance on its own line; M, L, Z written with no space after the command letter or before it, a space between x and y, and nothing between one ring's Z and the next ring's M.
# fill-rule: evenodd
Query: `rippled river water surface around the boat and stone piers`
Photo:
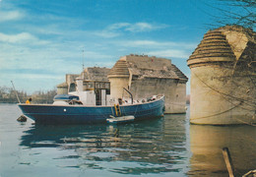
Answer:
M189 112L189 109L188 109ZM112 126L34 125L0 104L0 177L228 176L256 169L256 128L189 124L189 113Z

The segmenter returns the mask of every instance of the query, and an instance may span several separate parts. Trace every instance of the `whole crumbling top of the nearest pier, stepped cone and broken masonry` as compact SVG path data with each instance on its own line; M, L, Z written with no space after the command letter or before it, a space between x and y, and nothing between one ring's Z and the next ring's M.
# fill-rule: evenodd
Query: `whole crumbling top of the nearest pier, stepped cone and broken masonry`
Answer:
M209 30L187 63L190 66L198 63L239 60L245 50L253 50L256 44L255 36L252 29L239 26Z

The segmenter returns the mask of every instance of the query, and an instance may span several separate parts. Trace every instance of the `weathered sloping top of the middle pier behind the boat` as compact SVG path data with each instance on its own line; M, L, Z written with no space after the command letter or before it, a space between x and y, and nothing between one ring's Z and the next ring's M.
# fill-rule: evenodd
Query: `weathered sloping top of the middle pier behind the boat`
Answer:
M127 55L118 60L110 70L107 78L143 78L176 79L187 82L187 77L164 58L144 55Z

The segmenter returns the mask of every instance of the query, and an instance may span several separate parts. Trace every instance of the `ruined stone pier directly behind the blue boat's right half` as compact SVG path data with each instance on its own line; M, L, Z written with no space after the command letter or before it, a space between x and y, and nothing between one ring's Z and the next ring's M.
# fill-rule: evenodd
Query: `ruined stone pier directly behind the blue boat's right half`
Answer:
M164 58L147 55L121 57L107 76L111 97L129 97L123 88L132 92L134 99L165 95L165 113L185 113L187 77Z

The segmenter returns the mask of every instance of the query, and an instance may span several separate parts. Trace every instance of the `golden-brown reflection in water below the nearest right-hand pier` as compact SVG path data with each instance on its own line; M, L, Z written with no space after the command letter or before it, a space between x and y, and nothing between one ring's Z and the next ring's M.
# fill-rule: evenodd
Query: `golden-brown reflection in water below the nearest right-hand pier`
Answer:
M256 129L251 126L190 125L189 175L228 176L222 148L229 148L235 174L256 168Z

